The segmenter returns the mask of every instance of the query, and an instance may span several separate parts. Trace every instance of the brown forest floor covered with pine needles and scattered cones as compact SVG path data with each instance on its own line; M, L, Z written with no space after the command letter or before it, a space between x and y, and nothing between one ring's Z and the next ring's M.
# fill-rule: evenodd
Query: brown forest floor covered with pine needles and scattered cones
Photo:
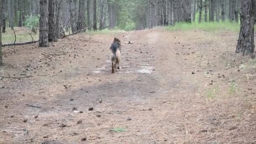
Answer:
M3 47L0 143L256 142L256 60L237 37L155 28Z

